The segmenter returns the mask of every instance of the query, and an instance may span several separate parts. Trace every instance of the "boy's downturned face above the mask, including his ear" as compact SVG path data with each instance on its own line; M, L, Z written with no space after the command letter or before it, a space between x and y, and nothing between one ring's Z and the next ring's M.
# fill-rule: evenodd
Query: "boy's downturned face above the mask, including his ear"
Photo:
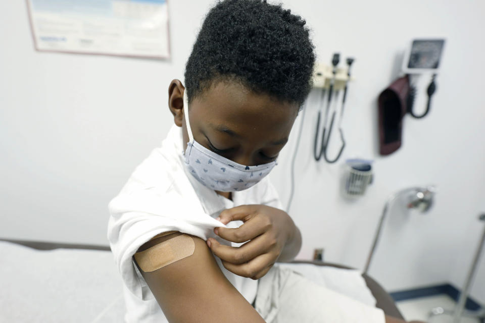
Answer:
M182 127L183 148L188 142L183 106L183 86L169 87L169 107L175 124ZM298 105L255 94L235 82L220 82L190 103L193 138L204 147L235 163L255 166L273 161L288 140Z

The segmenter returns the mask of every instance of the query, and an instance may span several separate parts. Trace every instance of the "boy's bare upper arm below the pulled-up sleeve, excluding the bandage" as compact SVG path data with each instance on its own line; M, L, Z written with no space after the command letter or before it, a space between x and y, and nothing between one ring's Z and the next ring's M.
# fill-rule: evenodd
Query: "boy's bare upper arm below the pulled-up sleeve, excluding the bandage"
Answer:
M182 235L157 235L137 251ZM157 270L144 272L133 257L150 290L170 322L264 322L259 313L226 279L206 242L193 240L193 253ZM135 254L136 255L136 254ZM143 267L143 266L142 266Z

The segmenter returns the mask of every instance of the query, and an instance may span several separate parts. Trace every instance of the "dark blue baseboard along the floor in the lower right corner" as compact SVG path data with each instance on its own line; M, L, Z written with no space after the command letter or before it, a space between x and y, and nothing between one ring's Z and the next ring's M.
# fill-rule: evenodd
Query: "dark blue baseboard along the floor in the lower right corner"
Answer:
M403 301L407 299L434 296L440 294L446 294L453 298L456 302L460 298L461 291L451 284L435 285L428 287L414 288L404 291L397 291L389 293L395 302ZM465 308L469 310L479 310L481 305L474 299L468 297L466 300Z

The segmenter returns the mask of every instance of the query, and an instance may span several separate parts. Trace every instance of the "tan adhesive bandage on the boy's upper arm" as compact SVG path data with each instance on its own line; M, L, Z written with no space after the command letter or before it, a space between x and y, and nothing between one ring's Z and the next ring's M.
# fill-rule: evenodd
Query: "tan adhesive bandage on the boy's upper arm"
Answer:
M160 237L160 235L154 238L156 237ZM195 244L192 237L181 234L162 241L147 250L137 252L134 257L141 270L150 273L192 255L194 250Z

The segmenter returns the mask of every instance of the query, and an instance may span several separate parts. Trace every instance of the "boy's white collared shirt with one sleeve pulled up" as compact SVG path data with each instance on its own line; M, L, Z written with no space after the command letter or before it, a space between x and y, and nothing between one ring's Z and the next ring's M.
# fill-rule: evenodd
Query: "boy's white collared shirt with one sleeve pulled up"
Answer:
M240 246L216 236L215 220L226 209L244 204L265 204L282 209L278 194L268 177L253 187L232 192L232 201L199 183L183 166L181 128L173 125L161 147L136 167L121 192L109 204L108 240L123 279L126 322L167 322L154 295L144 281L132 256L152 237L165 231L180 231L204 240L212 237L221 244ZM238 228L232 221L227 228ZM237 276L216 262L232 285L252 303L258 281Z

